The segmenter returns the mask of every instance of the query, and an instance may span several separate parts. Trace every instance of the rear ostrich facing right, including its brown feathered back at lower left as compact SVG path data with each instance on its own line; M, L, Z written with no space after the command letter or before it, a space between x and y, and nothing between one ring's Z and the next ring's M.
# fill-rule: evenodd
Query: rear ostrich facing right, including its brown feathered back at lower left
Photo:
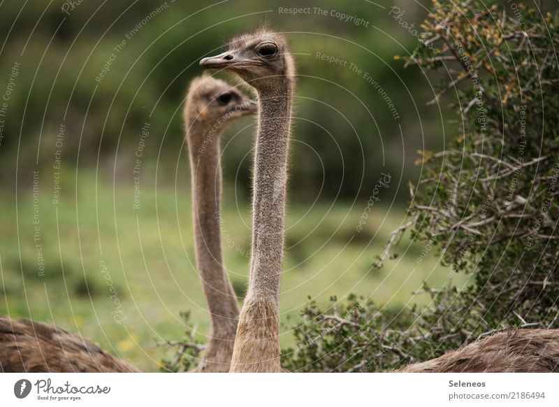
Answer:
M212 338L196 371L228 371L238 305L223 269L219 241L219 132L235 117L256 112L256 103L231 85L208 76L191 83L184 108L191 155L196 259L208 308ZM215 140L206 136L214 129ZM138 372L91 341L54 325L0 316L2 372Z

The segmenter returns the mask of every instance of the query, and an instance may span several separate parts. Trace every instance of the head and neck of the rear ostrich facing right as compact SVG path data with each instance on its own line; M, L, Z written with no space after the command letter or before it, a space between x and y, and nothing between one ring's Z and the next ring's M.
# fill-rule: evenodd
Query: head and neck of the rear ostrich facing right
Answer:
M228 122L256 110L256 102L211 76L192 81L184 105L196 263L211 315L210 341L195 369L199 372L229 371L239 315L237 297L224 269L220 239L219 134Z

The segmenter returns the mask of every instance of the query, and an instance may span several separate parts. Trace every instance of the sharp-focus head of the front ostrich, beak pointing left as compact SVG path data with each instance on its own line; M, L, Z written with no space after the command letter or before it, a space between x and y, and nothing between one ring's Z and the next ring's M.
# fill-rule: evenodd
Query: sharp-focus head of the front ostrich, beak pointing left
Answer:
M232 71L256 90L284 86L295 71L287 38L266 29L234 37L225 52L202 59L200 65Z

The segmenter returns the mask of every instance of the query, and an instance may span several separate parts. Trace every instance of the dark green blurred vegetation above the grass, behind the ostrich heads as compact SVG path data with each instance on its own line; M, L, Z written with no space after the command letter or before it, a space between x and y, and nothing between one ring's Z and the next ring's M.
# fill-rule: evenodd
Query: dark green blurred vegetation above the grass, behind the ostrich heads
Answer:
M64 4L30 0L25 6L16 1L1 6L0 36L7 41L0 83L15 62L21 64L0 147L3 185L28 181L36 167L51 169L61 124L65 171L99 166L106 176L115 172L131 182L140 129L150 122L143 161L157 163L162 182L172 180L183 154L182 100L189 80L201 73L198 61L219 52L232 34L264 23L288 32L297 53L293 199L364 197L383 170L395 179L416 179L419 169L410 157L442 143L440 108L426 106L433 97L428 80L419 69L405 70L393 61L395 53L412 50L416 38L384 6L341 0L304 5L359 17L365 27L314 11L279 12L279 7L301 7L294 0L83 1L63 13ZM411 0L402 1L404 6L409 22L426 13ZM317 52L347 66L319 59ZM108 62L108 72L97 81ZM398 120L365 73L391 98ZM236 180L242 197L249 195L246 155L253 130L232 140L225 152L228 168L239 171L224 175ZM405 189L397 185L392 193L405 199Z

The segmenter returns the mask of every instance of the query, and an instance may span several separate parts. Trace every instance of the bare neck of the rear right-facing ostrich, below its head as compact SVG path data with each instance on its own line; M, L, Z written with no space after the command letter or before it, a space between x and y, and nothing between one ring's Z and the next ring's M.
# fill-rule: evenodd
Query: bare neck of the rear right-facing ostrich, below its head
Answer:
M215 338L234 338L238 304L224 268L221 245L222 167L219 133L200 122L189 126L192 212L198 273Z

